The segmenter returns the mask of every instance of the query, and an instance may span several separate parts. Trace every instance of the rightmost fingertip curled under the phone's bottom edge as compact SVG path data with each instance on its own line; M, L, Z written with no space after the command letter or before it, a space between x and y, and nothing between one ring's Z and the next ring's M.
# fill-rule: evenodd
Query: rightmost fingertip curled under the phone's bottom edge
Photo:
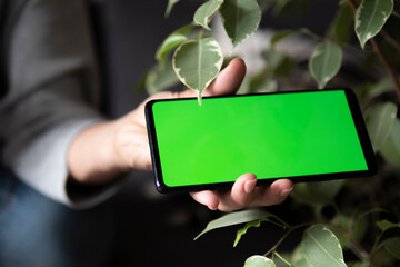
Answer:
M284 201L293 189L293 184L289 179L279 179L269 187L258 187L254 190L254 198L250 206L272 206Z

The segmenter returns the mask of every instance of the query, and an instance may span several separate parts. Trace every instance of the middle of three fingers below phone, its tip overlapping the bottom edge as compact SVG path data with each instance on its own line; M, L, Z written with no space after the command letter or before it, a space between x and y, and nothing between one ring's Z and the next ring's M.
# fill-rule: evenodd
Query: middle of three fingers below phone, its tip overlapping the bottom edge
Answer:
M249 206L254 198L257 177L253 174L240 176L233 184L230 191L219 194L219 210L231 211Z

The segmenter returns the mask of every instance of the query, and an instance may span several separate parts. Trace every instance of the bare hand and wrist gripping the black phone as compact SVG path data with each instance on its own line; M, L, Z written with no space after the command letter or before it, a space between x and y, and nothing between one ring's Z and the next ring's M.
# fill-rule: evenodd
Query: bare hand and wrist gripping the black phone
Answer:
M244 73L244 62L241 59L232 60L203 91L203 96L233 95ZM196 97L196 93L192 90L156 93L122 118L81 132L72 142L68 155L73 178L80 182L101 184L129 169L151 170L144 105L151 99L182 97ZM293 188L288 179L277 180L269 187L256 187L256 184L253 174L244 174L237 179L231 190L206 190L191 192L191 196L210 209L230 211L248 206L280 204Z

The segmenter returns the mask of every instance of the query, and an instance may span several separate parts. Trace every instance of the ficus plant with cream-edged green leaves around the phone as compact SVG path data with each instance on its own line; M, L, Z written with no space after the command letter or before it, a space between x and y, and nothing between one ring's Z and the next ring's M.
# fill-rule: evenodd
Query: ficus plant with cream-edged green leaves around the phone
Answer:
M280 16L292 7L307 8L311 0L208 0L190 24L170 33L159 46L158 63L148 72L150 93L179 82L201 93L217 77L237 47L258 31L263 12ZM169 0L166 16L179 0ZM239 226L233 246L250 228L272 224L282 237L264 253L250 256L244 266L399 266L400 265L400 1L338 0L334 18L324 36L309 29L274 32L268 49L260 51L264 67L248 75L239 93L286 88L342 86L347 58L364 73L350 85L361 103L379 172L368 179L297 184L289 199L293 221L268 209L246 209L212 220L197 237L221 227ZM221 18L231 41L224 56L214 37L213 21ZM311 41L308 69L299 71L290 52L280 49L290 38ZM357 57L353 57L357 55ZM353 60L354 61L354 60ZM344 79L346 80L346 79ZM330 208L329 215L324 211ZM308 210L301 216L299 210ZM306 215L304 215L306 214ZM252 229L256 230L256 229ZM302 240L292 251L280 245L294 231ZM346 257L344 257L344 256Z

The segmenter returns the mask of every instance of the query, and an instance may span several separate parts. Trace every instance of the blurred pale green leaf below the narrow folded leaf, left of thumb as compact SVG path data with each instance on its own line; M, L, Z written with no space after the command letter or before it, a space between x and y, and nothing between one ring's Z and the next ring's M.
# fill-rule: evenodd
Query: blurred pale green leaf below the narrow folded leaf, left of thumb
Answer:
M168 60L150 69L146 78L146 90L149 95L153 95L178 83L179 79L172 69L172 62Z

